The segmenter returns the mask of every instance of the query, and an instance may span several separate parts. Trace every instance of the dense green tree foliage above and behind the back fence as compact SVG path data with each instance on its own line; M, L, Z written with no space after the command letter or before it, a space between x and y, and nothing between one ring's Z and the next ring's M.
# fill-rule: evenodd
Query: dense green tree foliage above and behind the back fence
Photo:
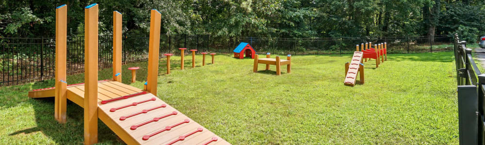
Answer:
M0 37L52 37L54 8L61 4L68 6L68 34L82 35L83 8L94 2L101 34L111 33L115 10L123 14L124 33L147 34L150 9L162 13L167 34L308 38L485 31L483 0L0 0Z

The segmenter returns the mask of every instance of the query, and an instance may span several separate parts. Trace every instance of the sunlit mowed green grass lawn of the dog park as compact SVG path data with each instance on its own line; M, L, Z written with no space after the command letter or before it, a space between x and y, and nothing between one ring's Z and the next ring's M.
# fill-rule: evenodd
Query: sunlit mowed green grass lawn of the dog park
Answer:
M275 56L272 56L274 58ZM208 57L210 58L210 57ZM283 57L286 58L286 57ZM253 73L253 59L217 55L215 64L172 72L161 58L158 97L235 145L311 144L458 144L458 108L453 53L392 54L375 68L365 63L365 84L343 85L344 63L351 55L294 56L291 73ZM210 59L208 61L210 63ZM134 87L143 88L146 62ZM99 71L109 79L111 69ZM83 82L71 75L69 84ZM0 144L81 144L83 110L68 102L67 123L54 120L54 100L29 99L31 89L53 80L0 87ZM100 144L124 144L99 121Z

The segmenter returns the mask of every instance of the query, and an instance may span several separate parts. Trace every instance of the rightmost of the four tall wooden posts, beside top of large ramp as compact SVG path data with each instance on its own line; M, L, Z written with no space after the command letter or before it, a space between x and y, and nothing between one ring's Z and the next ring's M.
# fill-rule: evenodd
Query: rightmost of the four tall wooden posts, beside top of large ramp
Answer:
M160 22L162 14L155 9L150 11L150 39L148 44L148 76L146 90L157 96L158 60L160 46Z

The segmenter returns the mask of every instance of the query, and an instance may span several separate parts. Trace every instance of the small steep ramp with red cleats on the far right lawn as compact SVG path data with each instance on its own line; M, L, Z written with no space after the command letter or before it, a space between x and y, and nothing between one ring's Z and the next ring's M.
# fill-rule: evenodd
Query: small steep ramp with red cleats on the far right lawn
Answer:
M357 73L360 73L360 84L364 84L364 64L362 64L363 52L356 51L352 61L345 63L345 80L344 85L355 86Z

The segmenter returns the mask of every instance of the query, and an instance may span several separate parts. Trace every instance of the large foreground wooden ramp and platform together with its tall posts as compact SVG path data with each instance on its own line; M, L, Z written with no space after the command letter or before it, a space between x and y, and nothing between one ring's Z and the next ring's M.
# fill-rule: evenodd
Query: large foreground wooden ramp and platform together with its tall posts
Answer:
M63 5L56 9L56 86L52 89L55 92L54 116L57 121L65 123L66 101L69 99L84 108L84 144L86 145L97 143L98 118L128 145L229 145L224 139L156 96L160 12L151 10L148 76L145 90L114 81L114 77L113 80L97 81L98 5L91 4L85 7L84 12L85 84L73 84L67 87L65 63L57 63L59 60L65 60L66 56L67 8ZM118 18L121 19L121 14ZM113 29L121 29L121 27ZM113 39L113 41L117 41L113 43L120 43L120 39ZM115 51L113 49L113 54L121 57L121 53L115 53ZM121 66L121 61L113 59L113 63L119 63ZM36 92L42 92L45 95L47 90L51 89L36 90ZM31 92L29 97L38 98L31 96Z

